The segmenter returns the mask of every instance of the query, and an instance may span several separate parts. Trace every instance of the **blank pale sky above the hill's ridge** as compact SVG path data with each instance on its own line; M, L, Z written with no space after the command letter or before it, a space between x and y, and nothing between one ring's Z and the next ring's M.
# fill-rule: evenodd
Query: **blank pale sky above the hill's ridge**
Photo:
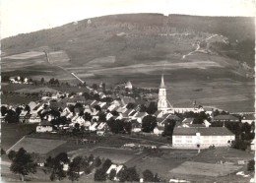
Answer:
M255 0L1 0L1 38L126 13L255 16Z

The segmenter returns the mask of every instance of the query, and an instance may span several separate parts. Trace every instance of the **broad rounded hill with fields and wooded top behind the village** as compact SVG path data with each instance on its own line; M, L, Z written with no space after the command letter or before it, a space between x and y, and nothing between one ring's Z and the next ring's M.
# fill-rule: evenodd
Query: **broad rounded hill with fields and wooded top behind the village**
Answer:
M161 14L92 18L3 39L2 75L74 80L73 72L88 83L131 80L137 86L157 88L165 65L174 103L188 102L188 96L210 103L206 96L212 94L219 105L220 95L232 93L243 97L230 99L227 107L239 102L251 110L254 32L254 18ZM49 60L38 53L43 51ZM197 89L202 90L193 91Z

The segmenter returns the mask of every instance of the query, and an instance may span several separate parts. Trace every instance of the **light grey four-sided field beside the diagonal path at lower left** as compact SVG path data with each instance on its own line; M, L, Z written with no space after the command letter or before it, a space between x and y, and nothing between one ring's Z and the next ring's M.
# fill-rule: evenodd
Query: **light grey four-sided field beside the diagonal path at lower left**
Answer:
M18 152L20 148L24 148L27 152L46 154L64 143L66 143L66 141L25 137L15 144L11 149L9 149L9 151L13 150Z

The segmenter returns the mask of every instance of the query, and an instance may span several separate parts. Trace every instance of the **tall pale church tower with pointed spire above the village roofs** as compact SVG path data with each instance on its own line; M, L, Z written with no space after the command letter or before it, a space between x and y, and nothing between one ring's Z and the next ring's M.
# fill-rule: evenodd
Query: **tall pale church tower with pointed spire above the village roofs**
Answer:
M158 110L166 111L168 109L169 108L168 108L167 98L166 98L166 89L164 86L163 75L161 75Z

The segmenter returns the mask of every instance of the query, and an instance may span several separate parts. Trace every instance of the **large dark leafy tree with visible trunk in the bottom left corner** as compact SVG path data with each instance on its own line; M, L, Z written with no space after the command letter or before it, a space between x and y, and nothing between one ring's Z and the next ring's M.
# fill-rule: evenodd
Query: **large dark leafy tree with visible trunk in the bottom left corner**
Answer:
M12 159L10 170L22 176L24 181L25 175L36 172L36 163L32 160L32 155L21 148Z

